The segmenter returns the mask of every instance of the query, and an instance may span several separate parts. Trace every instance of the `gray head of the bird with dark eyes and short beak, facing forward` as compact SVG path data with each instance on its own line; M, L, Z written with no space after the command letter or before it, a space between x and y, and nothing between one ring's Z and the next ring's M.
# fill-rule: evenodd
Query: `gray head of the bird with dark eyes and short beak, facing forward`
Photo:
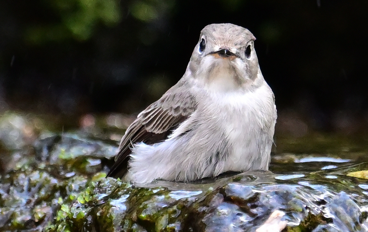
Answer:
M213 90L248 88L263 78L254 50L254 35L234 24L210 24L201 31L188 69Z

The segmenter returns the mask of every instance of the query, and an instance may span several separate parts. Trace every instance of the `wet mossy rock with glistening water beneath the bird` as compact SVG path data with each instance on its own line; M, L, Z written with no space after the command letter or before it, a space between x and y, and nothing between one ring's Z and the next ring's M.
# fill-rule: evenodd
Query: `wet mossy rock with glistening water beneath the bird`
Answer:
M368 231L367 179L352 174L368 170L363 150L280 152L272 172L133 186L105 177L109 130L32 122L0 121L0 231Z

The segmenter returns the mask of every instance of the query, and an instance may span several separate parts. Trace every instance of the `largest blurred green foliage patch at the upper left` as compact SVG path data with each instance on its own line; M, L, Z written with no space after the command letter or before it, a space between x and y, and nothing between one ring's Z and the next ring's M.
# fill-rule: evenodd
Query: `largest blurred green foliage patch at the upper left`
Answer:
M84 41L91 38L99 22L113 26L121 18L119 0L46 0L44 3L57 21L29 27L25 36L32 43L70 38Z

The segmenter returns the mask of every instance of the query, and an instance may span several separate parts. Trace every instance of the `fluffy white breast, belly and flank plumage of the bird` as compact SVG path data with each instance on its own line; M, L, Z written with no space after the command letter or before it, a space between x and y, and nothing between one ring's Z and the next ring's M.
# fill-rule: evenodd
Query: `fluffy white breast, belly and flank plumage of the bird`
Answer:
M276 108L266 82L254 91L216 91L207 97L168 139L134 146L130 180L188 181L226 171L268 169ZM216 157L221 151L226 155Z

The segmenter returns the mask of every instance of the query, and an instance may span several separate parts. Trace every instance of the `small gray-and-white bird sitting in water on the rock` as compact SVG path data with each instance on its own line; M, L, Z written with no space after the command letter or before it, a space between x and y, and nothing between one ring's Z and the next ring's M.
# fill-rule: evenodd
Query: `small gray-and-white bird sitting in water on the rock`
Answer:
M128 127L107 176L187 182L268 170L277 114L254 41L237 25L206 26L183 77Z

